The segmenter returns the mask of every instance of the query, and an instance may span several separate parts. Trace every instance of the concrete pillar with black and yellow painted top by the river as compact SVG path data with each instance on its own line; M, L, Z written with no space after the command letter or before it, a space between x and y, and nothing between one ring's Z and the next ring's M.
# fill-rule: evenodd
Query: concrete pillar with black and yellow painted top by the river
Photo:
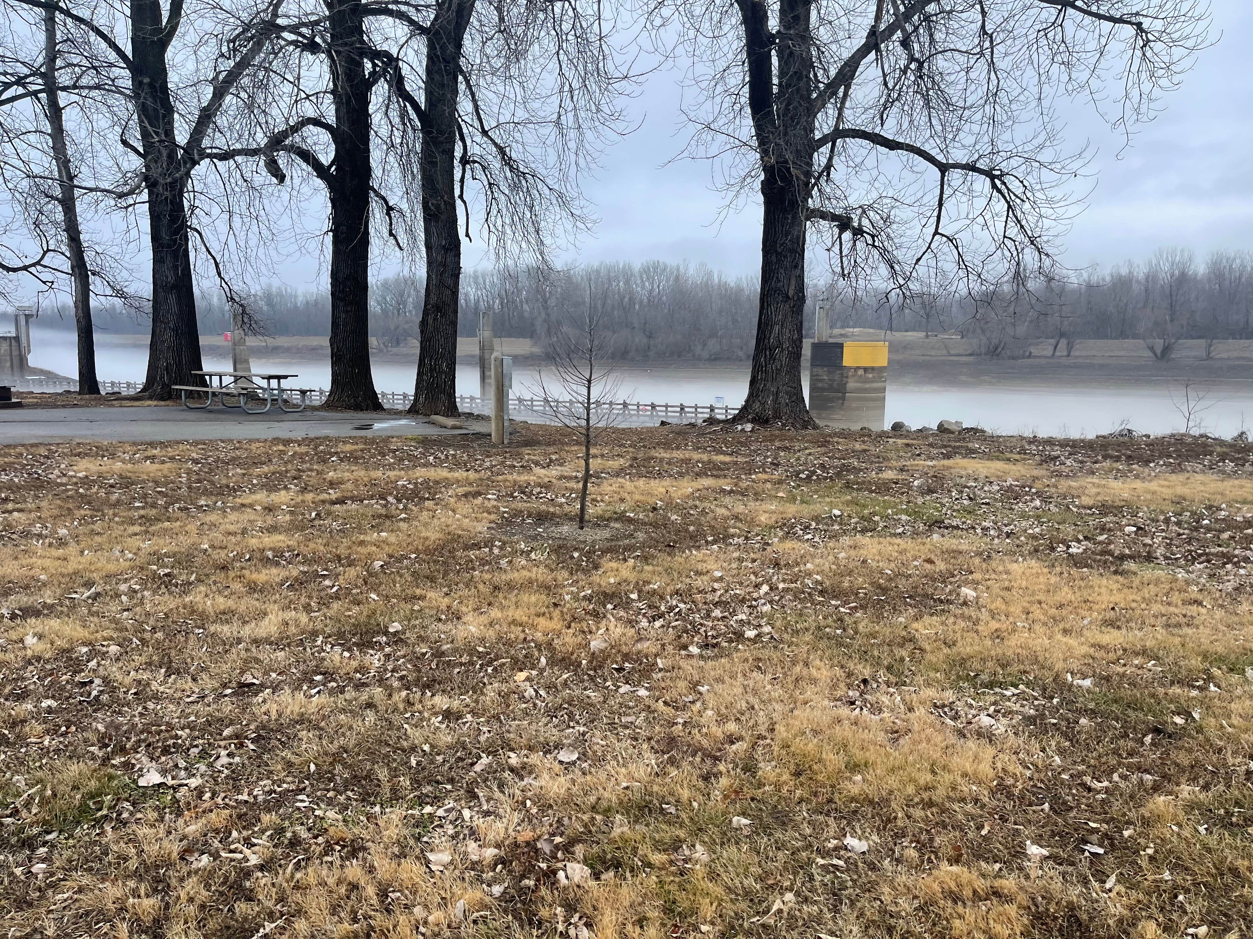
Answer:
M823 427L883 429L886 342L814 342L809 349L809 413Z

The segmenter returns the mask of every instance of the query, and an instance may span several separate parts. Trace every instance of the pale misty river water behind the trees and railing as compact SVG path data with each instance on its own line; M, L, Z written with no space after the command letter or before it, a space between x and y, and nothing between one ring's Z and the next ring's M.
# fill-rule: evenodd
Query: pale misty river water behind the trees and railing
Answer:
M76 359L74 334L63 331L39 331L33 336L31 364L61 374L74 374ZM103 336L98 339L96 368L101 379L142 381L148 362L145 346L133 341ZM381 359L373 364L375 384L380 391L411 392L416 363ZM231 367L229 347L223 344L221 356L205 349L205 368ZM257 371L293 372L301 387L326 388L331 382L326 361L283 361L268 358L263 348L252 349L252 366ZM628 366L618 369L621 378L620 398L635 402L670 404L715 403L738 404L748 388L747 366L664 367ZM516 369L514 392L531 397L534 369ZM1253 388L1193 388L1193 394L1205 396L1199 416L1200 429L1229 437L1245 426L1253 431ZM457 393L479 393L479 371L475 366L457 367ZM719 402L718 398L722 398ZM887 422L905 421L912 427L931 426L949 418L977 424L997 433L1036 433L1040 436L1080 437L1106 433L1123 423L1136 431L1168 433L1184 428L1179 404L1182 384L1162 381L1119 383L1116 387L1096 384L1076 387L1027 388L995 382L965 383L962 387L916 387L895 381L887 392ZM1197 429L1195 427L1193 429Z

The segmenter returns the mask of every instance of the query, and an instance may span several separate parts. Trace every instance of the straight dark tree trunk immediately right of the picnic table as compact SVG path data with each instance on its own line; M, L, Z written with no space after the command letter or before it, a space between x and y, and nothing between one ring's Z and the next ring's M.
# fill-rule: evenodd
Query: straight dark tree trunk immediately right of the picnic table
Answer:
M370 79L357 0L331 9L331 393L326 407L382 411L370 368Z

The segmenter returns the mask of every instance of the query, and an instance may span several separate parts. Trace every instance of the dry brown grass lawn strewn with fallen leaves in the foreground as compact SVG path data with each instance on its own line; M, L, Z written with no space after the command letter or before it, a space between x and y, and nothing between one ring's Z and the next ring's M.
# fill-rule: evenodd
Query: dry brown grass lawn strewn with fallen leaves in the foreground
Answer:
M1245 935L1247 452L732 437L0 452L0 924Z

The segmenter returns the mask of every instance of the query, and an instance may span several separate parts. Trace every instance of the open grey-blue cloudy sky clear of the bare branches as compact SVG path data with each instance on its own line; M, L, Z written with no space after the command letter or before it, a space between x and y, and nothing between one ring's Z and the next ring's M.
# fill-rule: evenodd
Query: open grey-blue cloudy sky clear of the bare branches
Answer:
M1070 116L1066 139L1095 150L1096 188L1066 239L1066 262L1113 264L1159 245L1253 248L1253 3L1213 0L1218 44L1202 53L1183 88L1162 101L1119 156L1121 138L1090 105ZM632 103L640 129L605 155L585 188L600 215L586 260L707 262L730 274L759 264L759 209L718 225L723 195L709 165L680 160L673 75L655 75Z

